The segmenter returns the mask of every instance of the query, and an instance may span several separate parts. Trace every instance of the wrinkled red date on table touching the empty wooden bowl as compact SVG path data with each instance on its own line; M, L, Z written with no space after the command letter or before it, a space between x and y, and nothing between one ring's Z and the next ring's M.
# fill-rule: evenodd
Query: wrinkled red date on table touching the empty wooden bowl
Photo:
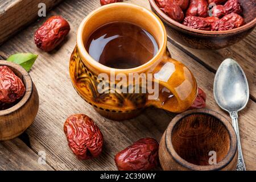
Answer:
M159 144L155 139L142 138L115 155L120 171L147 171L158 166Z

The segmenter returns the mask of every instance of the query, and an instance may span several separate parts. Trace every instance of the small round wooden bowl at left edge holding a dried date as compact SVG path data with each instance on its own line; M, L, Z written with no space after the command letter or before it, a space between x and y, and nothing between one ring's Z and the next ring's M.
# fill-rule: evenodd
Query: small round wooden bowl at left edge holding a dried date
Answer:
M22 134L34 121L39 108L39 96L30 75L20 65L0 60L0 66L6 65L20 77L26 92L18 104L6 110L0 110L0 140L9 140Z

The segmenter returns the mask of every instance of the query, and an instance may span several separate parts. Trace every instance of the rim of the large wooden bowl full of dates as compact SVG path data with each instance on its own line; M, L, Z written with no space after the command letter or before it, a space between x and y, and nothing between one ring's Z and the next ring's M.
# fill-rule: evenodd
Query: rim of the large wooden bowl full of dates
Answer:
M225 30L225 31L207 31L207 30L197 30L195 28L190 28L185 26L184 24L181 24L179 22L176 22L174 19L171 19L168 15L163 13L162 10L156 5L155 0L148 0L150 2L150 5L152 9L155 11L156 14L160 16L160 18L164 19L168 24L171 26L176 26L177 28L181 28L183 31L188 31L191 33L196 33L204 36L227 36L227 35L233 35L237 34L239 32L246 31L250 29L251 27L254 27L256 25L256 18L251 20L249 23L246 23L245 25L234 28L232 30Z

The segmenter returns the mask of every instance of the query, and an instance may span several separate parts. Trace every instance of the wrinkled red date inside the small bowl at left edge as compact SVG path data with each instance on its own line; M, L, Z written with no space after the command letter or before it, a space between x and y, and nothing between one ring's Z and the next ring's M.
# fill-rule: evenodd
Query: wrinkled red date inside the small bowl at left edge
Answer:
M25 91L22 80L15 73L7 66L0 66L0 103L11 104L22 98Z

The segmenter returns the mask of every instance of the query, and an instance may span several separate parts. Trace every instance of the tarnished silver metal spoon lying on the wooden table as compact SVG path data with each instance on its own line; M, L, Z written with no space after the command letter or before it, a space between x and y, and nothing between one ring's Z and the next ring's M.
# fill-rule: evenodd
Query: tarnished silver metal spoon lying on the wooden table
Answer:
M213 93L221 109L230 114L237 134L238 163L236 170L246 171L238 129L238 111L245 108L249 100L249 86L245 73L233 59L224 60L218 68L214 78Z

